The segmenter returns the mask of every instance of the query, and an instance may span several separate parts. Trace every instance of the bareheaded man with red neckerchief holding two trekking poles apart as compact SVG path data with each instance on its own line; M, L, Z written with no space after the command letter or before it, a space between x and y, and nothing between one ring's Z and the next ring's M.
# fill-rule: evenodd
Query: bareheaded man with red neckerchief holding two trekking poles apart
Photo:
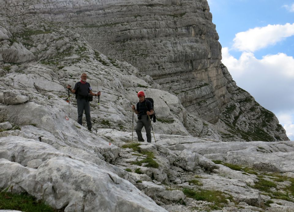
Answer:
M66 88L70 90L71 93L76 94L77 99L77 123L82 125L83 112L85 111L87 127L89 131L92 131L92 123L90 116L90 96L100 96L101 92L93 93L90 84L87 81L87 74L83 73L81 75L81 81L77 82L74 85L74 89L71 89L70 85L67 85Z

